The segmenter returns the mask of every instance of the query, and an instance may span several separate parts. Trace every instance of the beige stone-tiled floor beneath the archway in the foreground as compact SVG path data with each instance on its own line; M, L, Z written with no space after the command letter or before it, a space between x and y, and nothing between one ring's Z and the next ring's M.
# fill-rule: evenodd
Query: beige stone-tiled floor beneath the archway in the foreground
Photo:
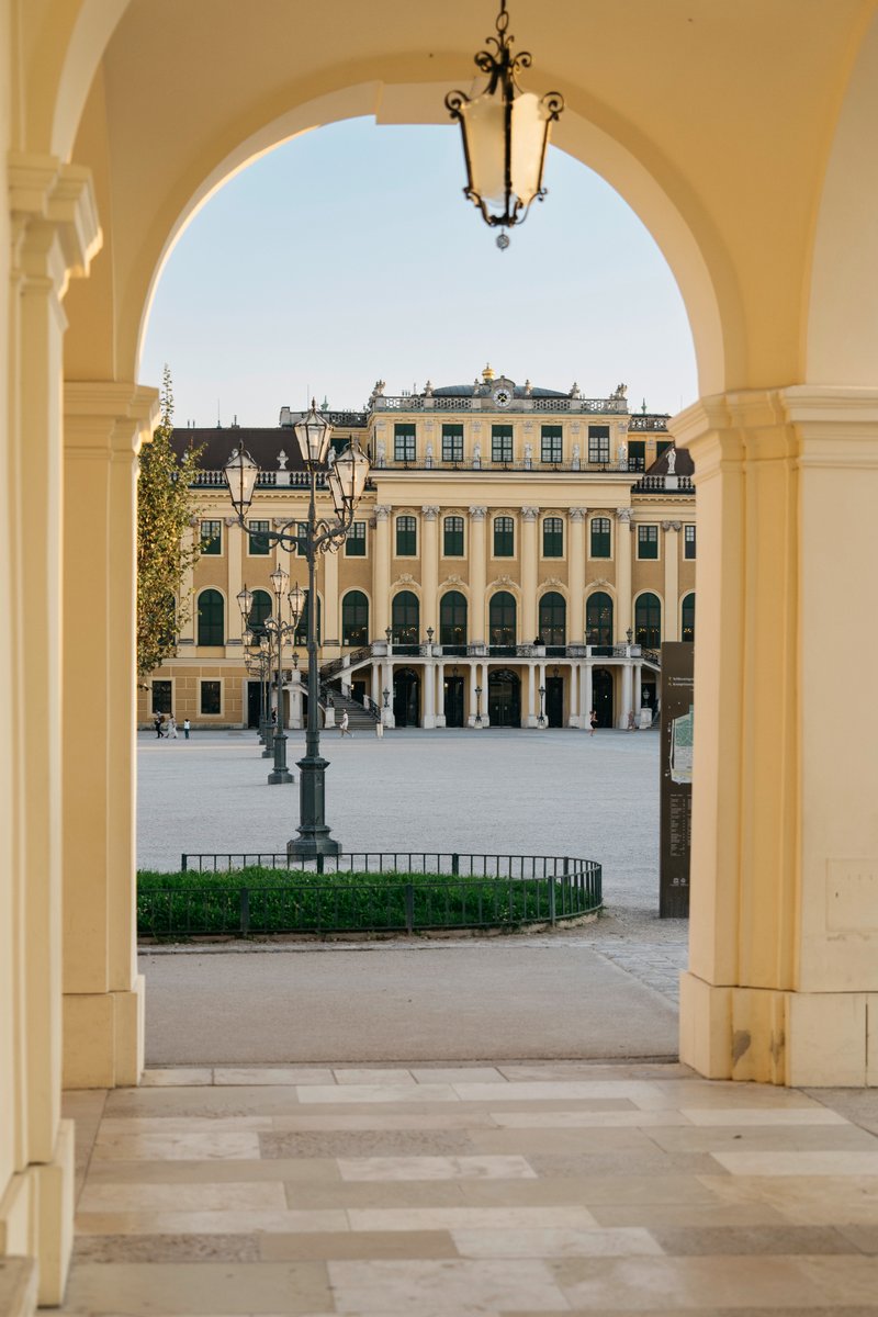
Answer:
M867 1097L677 1064L151 1071L67 1098L62 1312L875 1314Z

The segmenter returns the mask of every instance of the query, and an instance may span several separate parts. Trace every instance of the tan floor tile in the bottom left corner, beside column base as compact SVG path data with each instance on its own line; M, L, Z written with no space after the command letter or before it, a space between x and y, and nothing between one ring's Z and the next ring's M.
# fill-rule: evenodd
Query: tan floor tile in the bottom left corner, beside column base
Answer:
M82 1317L224 1317L333 1312L321 1262L83 1263L65 1313Z

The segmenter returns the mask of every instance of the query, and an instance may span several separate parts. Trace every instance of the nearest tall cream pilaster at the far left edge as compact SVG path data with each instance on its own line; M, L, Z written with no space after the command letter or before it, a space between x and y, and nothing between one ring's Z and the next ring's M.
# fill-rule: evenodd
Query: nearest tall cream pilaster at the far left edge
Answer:
M0 1238L4 1251L38 1259L39 1304L57 1305L72 1246L74 1202L72 1122L61 1119L63 644L88 647L95 656L91 608L67 618L62 633L62 299L71 275L87 273L100 229L91 175L79 166L12 151L7 184L7 346L13 367L0 490L8 525L0 556L0 593L8 605L8 639L0 640L7 681L0 739L9 765L0 802L0 881L8 882L14 919L0 931L11 989L0 993L0 1109L13 1175L0 1201ZM130 670L129 680L133 687ZM130 752L133 724L128 738ZM105 732L88 752L90 764L100 753L107 753ZM99 820L105 827L103 803ZM132 878L129 873L125 881ZM14 1064L7 1067L11 1050Z

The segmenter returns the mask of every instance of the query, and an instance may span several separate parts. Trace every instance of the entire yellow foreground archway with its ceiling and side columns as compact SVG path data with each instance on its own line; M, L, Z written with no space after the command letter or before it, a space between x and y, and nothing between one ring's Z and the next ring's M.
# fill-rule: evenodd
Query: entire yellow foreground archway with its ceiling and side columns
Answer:
M857 570L878 556L875 5L688 9L677 24L641 7L633 46L624 7L559 0L549 14L520 0L515 16L537 80L566 97L558 145L658 241L698 356L702 399L673 423L694 456L700 528L682 1055L717 1077L878 1083L878 710L820 714L837 635L865 652L878 641ZM0 641L0 964L17 967L0 1036L28 1039L26 1059L0 1064L4 1109L28 1113L0 1139L3 1189L50 1164L65 1183L62 1046L80 1087L136 1083L142 1059L133 514L155 406L138 345L162 261L211 191L286 137L351 115L442 121L480 28L463 0L446 4L441 45L420 5L250 0L242 74L238 0L0 0L0 594L17 623ZM681 61L686 76L667 79ZM717 97L729 67L740 76ZM154 70L161 94L140 94ZM25 735L33 710L49 716ZM42 1231L63 1204L41 1200ZM63 1272L53 1256L46 1303Z

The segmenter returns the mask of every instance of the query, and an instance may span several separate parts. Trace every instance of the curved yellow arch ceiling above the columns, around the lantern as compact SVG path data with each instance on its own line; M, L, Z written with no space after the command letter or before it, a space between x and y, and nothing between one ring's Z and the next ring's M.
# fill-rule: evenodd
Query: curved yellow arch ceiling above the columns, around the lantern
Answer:
M681 282L703 391L800 378L823 173L874 8L515 0L512 30L536 55L529 83L558 88L570 108L559 145L627 196ZM259 150L332 119L444 122L444 87L467 87L494 12L494 0L132 0L74 150L104 179L112 216L120 371L134 369L157 265L200 199ZM104 108L105 136L93 129ZM698 261L700 274L687 269ZM699 304L711 296L712 312ZM699 338L717 307L723 361L713 353L706 379Z

